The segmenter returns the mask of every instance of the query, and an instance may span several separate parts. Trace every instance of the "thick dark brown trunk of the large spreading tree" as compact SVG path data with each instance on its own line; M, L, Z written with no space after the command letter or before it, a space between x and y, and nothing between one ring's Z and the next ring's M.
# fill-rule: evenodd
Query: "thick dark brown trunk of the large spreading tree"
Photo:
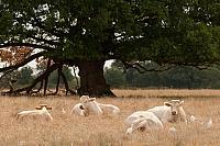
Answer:
M79 96L88 94L91 97L116 97L106 83L103 77L105 60L82 60L78 64L80 88Z

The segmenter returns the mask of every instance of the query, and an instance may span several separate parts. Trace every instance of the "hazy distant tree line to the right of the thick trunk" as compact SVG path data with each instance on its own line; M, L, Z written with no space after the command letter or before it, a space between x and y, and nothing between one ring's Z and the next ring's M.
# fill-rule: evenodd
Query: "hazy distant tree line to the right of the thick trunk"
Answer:
M112 64L105 69L105 77L113 88L220 89L220 66L205 69L176 66L164 71L140 74L136 69L124 69L120 64Z

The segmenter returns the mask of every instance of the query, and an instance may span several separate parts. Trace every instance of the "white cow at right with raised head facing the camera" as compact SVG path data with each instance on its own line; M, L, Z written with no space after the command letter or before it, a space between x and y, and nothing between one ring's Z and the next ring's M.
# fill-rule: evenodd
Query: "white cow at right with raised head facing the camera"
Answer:
M162 106L155 106L147 111L154 113L163 123L187 123L186 113L182 106L183 104L184 101L172 100L169 102L164 102Z

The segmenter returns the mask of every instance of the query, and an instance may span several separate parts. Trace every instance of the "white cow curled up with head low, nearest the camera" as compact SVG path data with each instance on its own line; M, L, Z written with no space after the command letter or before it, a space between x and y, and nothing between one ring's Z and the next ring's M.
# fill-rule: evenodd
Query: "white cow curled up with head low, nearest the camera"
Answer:
M127 130L128 134L131 134L136 130L161 130L164 127L158 117L148 111L134 112L129 115L124 122L129 126Z

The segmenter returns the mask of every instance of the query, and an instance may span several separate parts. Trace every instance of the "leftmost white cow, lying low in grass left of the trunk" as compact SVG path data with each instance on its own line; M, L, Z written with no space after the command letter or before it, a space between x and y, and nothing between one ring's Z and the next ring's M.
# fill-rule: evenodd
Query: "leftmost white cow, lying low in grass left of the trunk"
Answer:
M40 104L40 106L35 108L36 110L32 111L22 111L19 112L15 116L15 120L23 119L23 117L45 117L46 120L53 120L52 115L47 110L52 110L51 106L47 106L46 104Z

